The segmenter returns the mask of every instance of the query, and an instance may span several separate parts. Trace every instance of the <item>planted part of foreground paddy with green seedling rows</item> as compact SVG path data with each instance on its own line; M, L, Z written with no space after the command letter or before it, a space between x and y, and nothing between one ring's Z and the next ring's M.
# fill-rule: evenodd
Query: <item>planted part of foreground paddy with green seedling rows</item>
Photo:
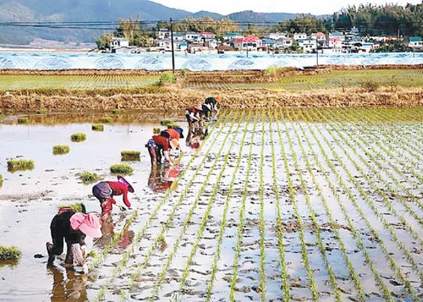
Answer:
M422 301L422 109L226 112L90 295Z

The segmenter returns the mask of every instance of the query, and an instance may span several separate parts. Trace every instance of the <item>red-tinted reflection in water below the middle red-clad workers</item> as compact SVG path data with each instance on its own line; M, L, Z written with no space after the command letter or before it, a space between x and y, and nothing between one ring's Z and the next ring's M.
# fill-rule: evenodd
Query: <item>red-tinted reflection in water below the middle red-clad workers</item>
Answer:
M152 165L149 177L149 187L153 192L164 192L169 187L176 186L176 178L181 174L180 165Z

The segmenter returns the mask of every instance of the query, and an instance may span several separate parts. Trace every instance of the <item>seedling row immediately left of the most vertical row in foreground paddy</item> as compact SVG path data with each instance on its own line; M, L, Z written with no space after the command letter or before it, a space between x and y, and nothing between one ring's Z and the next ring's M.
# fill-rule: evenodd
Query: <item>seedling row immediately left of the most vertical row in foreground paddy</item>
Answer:
M253 145L254 145L254 134L256 133L256 125L257 125L258 113L254 117L254 124L251 134L251 141L249 147L249 154L248 154L248 164L247 164L247 174L245 176L245 183L244 183L244 190L242 192L242 205L240 208L240 220L238 221L238 240L235 245L235 256L233 258L233 274L230 283L230 293L229 293L229 300L235 301L235 287L236 283L238 282L238 265L239 259L241 254L241 244L242 244L242 233L244 231L244 211L245 211L245 203L247 201L247 193L249 188L249 176L251 170L251 159L253 155Z

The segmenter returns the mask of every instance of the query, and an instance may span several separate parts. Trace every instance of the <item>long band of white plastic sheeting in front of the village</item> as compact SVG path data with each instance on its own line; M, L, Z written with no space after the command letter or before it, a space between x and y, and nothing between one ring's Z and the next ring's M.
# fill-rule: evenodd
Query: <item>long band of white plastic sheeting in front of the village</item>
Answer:
M181 54L175 56L176 69L192 71L309 67L316 65L315 54L236 53ZM423 53L319 54L320 65L417 65ZM0 53L0 69L172 69L170 53Z

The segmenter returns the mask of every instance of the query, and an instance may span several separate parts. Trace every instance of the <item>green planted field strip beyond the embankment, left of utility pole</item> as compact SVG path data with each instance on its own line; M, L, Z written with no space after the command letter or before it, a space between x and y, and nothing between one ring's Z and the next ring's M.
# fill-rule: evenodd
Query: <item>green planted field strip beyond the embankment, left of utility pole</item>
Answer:
M0 75L0 90L70 89L101 90L147 87L158 83L159 76L139 75Z

